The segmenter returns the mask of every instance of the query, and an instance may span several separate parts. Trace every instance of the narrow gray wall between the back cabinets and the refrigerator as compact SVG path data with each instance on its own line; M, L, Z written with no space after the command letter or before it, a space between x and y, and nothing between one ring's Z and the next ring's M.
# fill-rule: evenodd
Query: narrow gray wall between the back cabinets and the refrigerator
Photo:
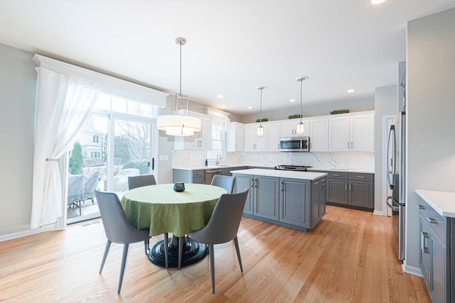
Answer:
M398 70L398 67L397 67ZM397 85L378 87L375 90L375 211L385 214L382 204L382 184L385 171L382 169L384 155L382 154L382 116L397 114ZM387 139L387 138L386 138Z

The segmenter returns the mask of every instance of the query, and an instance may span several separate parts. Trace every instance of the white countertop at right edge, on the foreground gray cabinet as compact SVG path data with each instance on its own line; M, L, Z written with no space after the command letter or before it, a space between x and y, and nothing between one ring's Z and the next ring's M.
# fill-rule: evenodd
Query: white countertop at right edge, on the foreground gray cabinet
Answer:
M455 192L416 189L415 192L441 216L455 218Z

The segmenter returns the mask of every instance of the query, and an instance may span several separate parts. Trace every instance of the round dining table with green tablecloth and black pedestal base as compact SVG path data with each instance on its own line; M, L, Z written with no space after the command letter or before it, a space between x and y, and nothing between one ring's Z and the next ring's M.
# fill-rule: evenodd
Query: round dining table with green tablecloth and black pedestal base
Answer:
M137 187L122 197L122 206L129 222L150 236L173 233L168 241L168 266L178 267L178 241L185 241L181 266L199 262L207 255L205 244L185 236L205 227L215 204L226 189L206 184L185 184L176 192L174 184L155 184ZM165 266L164 240L152 246L148 258L155 265Z

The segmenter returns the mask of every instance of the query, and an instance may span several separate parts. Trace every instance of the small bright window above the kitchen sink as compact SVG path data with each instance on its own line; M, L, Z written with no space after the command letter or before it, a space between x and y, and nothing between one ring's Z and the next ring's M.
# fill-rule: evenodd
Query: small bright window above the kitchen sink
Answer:
M218 157L225 158L225 138L228 131L228 113L217 109L208 109L208 114L212 116L212 149L207 151L207 158L215 160Z

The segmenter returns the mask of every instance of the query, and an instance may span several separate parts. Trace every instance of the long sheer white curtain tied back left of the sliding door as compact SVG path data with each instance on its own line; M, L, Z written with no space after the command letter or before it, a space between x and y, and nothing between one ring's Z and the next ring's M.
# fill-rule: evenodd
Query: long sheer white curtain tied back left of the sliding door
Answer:
M35 150L31 228L63 216L58 158L66 153L90 116L101 84L36 68Z

